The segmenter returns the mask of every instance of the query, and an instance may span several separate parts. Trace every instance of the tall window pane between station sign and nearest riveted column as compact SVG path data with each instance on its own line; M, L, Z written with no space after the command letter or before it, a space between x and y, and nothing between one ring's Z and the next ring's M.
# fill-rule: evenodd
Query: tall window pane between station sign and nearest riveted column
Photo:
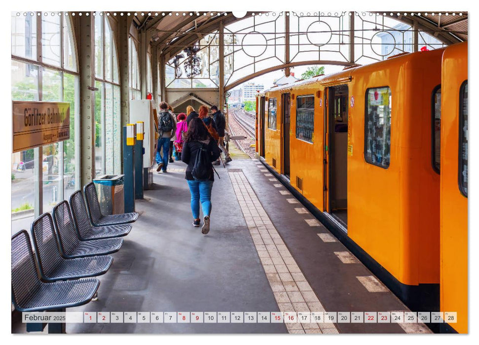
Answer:
M65 73L63 77L63 101L70 102L70 139L63 143L64 199L77 189L75 185L75 97L78 94L78 77Z

